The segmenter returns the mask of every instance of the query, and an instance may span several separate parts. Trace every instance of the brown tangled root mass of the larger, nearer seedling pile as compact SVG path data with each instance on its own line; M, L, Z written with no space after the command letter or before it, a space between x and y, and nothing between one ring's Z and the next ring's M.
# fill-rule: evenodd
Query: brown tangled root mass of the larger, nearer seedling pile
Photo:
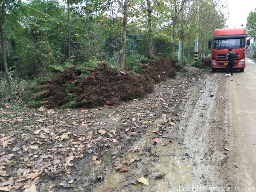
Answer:
M149 76L117 71L104 63L80 82L75 93L79 106L93 108L142 98L153 90L154 85Z

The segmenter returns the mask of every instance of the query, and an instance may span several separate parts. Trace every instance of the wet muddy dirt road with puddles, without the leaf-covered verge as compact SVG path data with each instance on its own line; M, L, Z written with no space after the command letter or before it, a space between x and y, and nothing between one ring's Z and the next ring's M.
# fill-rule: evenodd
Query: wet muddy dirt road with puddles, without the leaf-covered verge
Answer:
M148 148L151 154L140 156L128 173L110 174L97 191L255 191L255 87L252 61L233 78L208 73L191 97L183 99L180 121L161 138L165 145L150 145L158 129L148 130L131 149ZM156 124L160 122L164 124L165 117ZM137 156L127 152L125 157ZM139 175L148 178L149 185L131 185Z

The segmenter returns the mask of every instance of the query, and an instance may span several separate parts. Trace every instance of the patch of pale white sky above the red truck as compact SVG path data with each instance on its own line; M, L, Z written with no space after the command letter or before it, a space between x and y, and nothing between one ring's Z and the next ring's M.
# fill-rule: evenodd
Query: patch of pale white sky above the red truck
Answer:
M250 11L256 8L256 0L222 0L227 2L229 7L229 16L226 23L229 28L241 27L246 25L247 16Z

